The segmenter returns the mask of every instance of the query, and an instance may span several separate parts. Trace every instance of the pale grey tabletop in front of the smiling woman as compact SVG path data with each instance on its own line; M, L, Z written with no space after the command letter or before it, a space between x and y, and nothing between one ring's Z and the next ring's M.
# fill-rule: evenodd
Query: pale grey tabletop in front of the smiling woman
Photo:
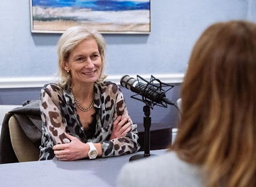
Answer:
M165 151L166 150L152 150L150 154L161 155L164 154ZM0 186L115 186L116 177L122 165L128 163L132 155L137 154L144 154L144 152L95 160L46 160L0 164Z

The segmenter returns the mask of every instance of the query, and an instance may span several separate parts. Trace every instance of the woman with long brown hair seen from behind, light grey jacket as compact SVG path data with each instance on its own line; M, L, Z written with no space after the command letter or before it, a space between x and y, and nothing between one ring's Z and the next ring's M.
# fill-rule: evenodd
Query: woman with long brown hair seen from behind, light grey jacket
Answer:
M254 23L207 28L190 57L171 151L127 164L118 186L256 186L255 72Z

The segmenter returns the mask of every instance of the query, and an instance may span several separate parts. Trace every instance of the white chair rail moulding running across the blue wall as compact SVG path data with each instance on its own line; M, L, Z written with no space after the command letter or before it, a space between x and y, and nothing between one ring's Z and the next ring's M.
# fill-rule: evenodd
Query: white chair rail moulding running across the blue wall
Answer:
M136 78L136 75L129 75ZM141 77L149 80L150 74L141 74ZM120 84L122 75L109 75L106 80L111 80ZM154 77L160 79L163 83L182 83L184 74L154 74ZM12 77L0 78L0 88L39 88L43 85L55 81L55 77Z

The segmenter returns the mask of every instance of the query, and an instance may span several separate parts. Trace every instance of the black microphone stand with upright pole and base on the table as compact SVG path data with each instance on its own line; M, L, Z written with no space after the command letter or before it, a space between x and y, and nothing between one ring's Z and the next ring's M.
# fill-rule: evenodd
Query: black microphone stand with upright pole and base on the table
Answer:
M137 154L134 156L131 156L129 161L134 161L137 159L142 159L147 156L150 156L150 127L151 127L151 117L150 117L150 107L149 104L146 103L146 105L143 107L144 112L144 154ZM152 154L154 155L154 154Z

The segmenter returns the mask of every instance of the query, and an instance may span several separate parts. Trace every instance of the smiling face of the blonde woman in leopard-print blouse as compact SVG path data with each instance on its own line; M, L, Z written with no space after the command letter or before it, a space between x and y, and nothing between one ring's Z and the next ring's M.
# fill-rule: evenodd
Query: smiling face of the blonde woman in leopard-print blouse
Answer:
M96 40L89 38L78 44L70 52L64 68L70 70L72 84L96 82L101 73L101 57Z

